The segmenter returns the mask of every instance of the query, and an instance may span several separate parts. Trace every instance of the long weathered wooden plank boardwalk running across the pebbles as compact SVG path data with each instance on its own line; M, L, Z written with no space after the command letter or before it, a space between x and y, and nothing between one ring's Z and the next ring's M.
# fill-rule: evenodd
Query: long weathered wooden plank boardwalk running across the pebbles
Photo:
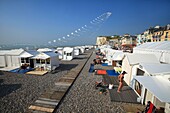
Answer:
M92 53L91 53L92 54ZM89 57L90 55L89 54ZM89 58L88 57L88 58ZM53 113L65 97L77 76L83 69L87 60L82 65L78 65L71 69L65 76L55 82L55 86L46 90L40 97L29 106L29 113Z

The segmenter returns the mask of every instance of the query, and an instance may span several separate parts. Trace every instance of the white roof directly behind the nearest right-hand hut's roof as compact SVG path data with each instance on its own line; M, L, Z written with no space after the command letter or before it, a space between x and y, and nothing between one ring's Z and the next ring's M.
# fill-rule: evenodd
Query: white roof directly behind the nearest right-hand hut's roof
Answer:
M170 74L170 64L140 63L140 66L152 75Z

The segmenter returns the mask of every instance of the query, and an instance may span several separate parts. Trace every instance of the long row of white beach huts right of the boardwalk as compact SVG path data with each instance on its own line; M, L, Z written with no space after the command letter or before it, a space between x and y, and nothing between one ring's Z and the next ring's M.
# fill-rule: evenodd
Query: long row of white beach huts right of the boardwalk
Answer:
M170 113L170 41L148 42L137 46L133 53L101 46L101 51L114 69L126 71L124 81L146 105L151 101L157 108Z

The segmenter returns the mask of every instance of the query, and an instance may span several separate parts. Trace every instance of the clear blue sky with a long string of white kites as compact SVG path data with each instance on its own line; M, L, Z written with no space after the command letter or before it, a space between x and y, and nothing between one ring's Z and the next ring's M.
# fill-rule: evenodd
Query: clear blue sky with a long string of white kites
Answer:
M170 24L170 0L0 0L0 44L95 44Z

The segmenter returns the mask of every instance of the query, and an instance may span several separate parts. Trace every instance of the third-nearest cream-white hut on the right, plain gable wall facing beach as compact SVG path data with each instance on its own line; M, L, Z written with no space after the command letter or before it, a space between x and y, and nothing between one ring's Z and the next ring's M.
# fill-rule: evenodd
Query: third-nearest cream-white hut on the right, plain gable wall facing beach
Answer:
M124 76L124 81L131 86L133 79L132 72L136 70L137 66L140 63L160 63L159 60L153 54L137 54L129 53L126 54L125 58L122 61L122 70L126 71L127 74ZM132 70L133 69L133 70Z

